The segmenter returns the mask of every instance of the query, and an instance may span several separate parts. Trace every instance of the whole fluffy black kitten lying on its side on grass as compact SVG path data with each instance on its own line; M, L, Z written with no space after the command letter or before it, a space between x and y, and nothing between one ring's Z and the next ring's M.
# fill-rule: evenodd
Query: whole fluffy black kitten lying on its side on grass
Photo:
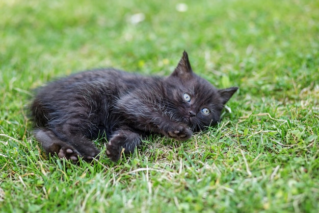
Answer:
M98 158L92 139L106 136L106 154L118 161L151 133L184 141L217 124L237 89L217 89L197 76L185 51L168 77L88 70L38 89L31 104L34 135L47 155L73 162Z

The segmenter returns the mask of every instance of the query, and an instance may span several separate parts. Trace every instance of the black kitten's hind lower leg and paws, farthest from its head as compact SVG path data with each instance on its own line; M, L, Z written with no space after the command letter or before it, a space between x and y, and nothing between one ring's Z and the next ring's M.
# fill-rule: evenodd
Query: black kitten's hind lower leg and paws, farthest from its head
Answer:
M79 157L91 160L99 154L92 141L85 137L68 137L61 140L56 130L45 128L35 130L35 137L41 143L42 149L47 154L57 154L60 158L71 159L76 162Z

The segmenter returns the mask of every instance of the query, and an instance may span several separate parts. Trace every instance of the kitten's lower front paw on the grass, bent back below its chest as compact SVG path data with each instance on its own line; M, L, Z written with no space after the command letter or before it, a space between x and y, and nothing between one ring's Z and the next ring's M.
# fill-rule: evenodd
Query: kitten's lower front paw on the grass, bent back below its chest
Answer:
M124 153L134 152L134 149L141 144L141 135L130 130L117 130L109 140L107 155L112 161L118 161L122 149Z

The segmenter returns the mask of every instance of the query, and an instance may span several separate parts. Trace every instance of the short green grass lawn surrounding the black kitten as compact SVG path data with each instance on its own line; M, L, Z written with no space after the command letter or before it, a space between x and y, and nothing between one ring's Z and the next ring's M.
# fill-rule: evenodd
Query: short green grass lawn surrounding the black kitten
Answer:
M318 211L319 2L183 2L0 2L0 212ZM150 137L118 164L41 154L34 88L95 67L169 75L183 50L240 87L218 126Z

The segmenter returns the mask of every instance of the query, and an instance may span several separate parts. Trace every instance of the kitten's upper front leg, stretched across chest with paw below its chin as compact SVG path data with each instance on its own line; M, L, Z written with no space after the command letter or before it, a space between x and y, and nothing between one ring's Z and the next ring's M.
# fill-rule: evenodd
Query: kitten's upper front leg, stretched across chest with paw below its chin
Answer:
M152 97L156 95L152 96L147 92L143 95L129 93L118 100L117 108L138 130L163 134L180 141L191 138L193 132L187 125L188 122L183 122L182 118L175 116L174 107L163 103L165 100L154 100Z

